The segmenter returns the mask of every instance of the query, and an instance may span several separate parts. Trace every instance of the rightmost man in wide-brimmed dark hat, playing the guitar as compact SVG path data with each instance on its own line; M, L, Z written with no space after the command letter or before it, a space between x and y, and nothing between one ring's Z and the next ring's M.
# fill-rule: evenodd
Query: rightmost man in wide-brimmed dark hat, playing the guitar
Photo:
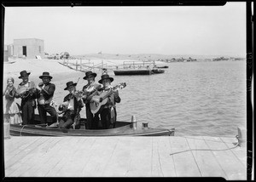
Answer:
M108 102L105 105L102 105L102 108L99 111L101 120L102 120L102 126L104 129L115 128L115 122L117 117L115 104L121 101L118 90L113 89L111 82L113 82L113 77L109 77L108 74L103 74L102 79L99 80L99 83L101 83L103 87L96 90L96 92L92 94L92 95L101 95L105 92L113 91L113 93L110 94L107 98ZM91 101L97 102L97 100L93 100L93 99Z

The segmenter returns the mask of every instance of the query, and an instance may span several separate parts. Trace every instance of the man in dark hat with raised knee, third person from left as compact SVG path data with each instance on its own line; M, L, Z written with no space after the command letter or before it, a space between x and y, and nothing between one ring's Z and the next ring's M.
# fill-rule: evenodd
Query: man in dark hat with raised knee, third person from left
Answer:
M50 105L55 93L55 84L50 82L52 77L49 75L49 72L43 72L43 75L39 78L42 79L43 82L40 82L37 88L38 113L41 123L49 125L50 122L57 122L57 112L55 108ZM47 121L47 112L51 117L51 121Z

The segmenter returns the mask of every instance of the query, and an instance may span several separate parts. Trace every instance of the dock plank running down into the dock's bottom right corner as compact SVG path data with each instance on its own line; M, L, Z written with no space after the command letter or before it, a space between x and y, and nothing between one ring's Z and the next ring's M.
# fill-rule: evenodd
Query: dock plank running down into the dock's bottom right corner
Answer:
M209 149L227 149L227 145L219 137L203 137L207 142ZM228 151L212 151L217 162L224 169L227 175L227 180L242 180L247 179L247 170L241 165L234 153Z

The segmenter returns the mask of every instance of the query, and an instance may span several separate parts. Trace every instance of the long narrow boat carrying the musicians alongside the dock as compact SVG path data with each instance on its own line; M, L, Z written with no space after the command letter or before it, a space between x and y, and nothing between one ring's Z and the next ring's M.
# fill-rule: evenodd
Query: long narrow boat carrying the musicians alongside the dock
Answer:
M49 116L48 119L50 119ZM51 127L46 124L39 124L40 119L38 115L35 115L34 121L38 124L10 124L9 134L13 136L173 136L175 132L174 128L150 128L148 127L148 123L138 126L137 122L117 121L115 128L86 129L86 119L81 118L79 129L67 129L58 128L56 125Z

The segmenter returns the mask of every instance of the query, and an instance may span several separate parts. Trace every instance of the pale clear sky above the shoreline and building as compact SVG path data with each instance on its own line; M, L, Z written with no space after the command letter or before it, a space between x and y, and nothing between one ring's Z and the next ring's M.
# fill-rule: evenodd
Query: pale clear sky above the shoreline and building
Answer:
M246 3L224 6L5 7L4 44L49 54L246 55Z

